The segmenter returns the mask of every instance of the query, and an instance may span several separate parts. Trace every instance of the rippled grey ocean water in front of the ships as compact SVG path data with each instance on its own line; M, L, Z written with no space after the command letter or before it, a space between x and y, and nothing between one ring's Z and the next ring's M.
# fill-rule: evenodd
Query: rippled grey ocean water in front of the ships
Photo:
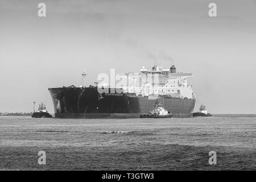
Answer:
M46 165L38 152L46 152ZM209 152L217 164L210 165ZM1 170L256 169L256 115L172 119L0 117Z

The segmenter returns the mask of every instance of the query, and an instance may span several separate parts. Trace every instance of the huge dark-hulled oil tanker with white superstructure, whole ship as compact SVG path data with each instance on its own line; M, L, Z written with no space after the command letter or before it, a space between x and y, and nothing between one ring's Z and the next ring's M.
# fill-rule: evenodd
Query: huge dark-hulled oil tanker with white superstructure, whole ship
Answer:
M85 86L86 75L82 73L80 87L49 88L55 117L139 118L152 110L156 100L173 117L192 116L196 96L187 82L192 73L176 72L174 65L168 69L142 67L140 73L122 74L126 84L114 87L105 82Z

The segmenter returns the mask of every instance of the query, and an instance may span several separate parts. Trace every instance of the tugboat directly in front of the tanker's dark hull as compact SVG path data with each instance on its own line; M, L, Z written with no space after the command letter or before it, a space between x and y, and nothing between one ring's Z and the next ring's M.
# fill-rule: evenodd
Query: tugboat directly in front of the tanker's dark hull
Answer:
M140 118L172 118L173 114L168 110L164 109L163 105L159 102L156 102L154 105L154 109L149 113L143 113L139 117Z

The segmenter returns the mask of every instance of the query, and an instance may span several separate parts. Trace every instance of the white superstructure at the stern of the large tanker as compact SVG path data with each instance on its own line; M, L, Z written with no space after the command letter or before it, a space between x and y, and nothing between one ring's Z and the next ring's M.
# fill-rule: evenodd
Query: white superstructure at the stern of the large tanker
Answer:
M192 73L177 73L174 65L170 69L154 65L152 69L143 67L140 71L121 76L127 79L127 84L121 86L124 92L134 93L137 96L164 95L195 99L192 86L187 82L187 78L192 77Z

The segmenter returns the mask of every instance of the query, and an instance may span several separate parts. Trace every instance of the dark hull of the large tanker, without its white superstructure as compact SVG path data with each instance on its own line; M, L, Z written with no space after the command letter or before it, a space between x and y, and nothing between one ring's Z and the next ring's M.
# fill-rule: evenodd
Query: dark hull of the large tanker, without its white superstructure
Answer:
M58 118L139 118L152 110L156 98L128 93L99 94L92 88L49 88ZM158 96L173 117L192 117L195 99Z

